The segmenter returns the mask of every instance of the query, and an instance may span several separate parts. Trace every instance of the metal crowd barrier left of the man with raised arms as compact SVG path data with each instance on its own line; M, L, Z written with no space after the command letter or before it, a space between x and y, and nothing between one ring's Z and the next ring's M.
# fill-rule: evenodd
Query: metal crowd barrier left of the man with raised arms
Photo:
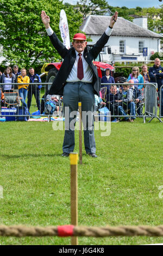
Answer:
M3 92L2 93L2 86L8 84L8 83L0 83L0 117L1 118L6 118L7 120L16 120L18 119L18 117L39 117L41 115L41 117L48 117L48 121L51 120L51 117L53 115L58 115L58 112L62 111L62 100L61 97L59 95L57 96L58 102L55 104L55 111L53 113L50 113L50 111L47 113L46 111L49 110L49 108L46 108L46 93L48 90L48 86L51 85L52 83L28 83L28 85L31 87L30 89L30 93L31 95L29 95L29 90L27 93L27 97L26 97L26 105L28 108L28 100L29 97L31 98L31 102L30 102L30 109L29 112L30 113L26 113L26 112L20 112L19 110L23 107L26 107L25 104L23 102L21 102L21 97L18 93L18 85L20 85L20 83L11 83L14 86L14 89L12 90L7 90L7 92ZM26 85L27 83L21 83L21 85ZM42 85L42 88L38 88L36 86ZM34 87L34 91L32 90L32 88ZM37 92L36 92L37 91ZM36 98L35 98L35 95ZM39 96L39 100L37 100L37 96ZM34 98L33 98L34 97ZM33 104L33 100L35 101L35 111L34 111L34 107L32 106ZM30 100L29 100L30 101ZM33 110L32 110L33 108Z

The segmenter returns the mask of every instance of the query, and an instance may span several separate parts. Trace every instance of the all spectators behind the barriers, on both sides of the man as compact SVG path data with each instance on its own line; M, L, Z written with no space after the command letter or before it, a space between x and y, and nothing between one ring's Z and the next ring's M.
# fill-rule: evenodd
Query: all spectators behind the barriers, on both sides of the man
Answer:
M106 69L105 75L101 78L100 96L95 95L95 111L98 111L99 108L107 107L111 112L112 122L133 122L136 115L142 115L141 102L145 97L145 83L153 82L158 84L158 96L161 96L160 111L161 115L163 115L163 88L160 95L160 87L163 84L163 67L160 65L160 59L156 58L154 60L154 65L149 68L149 71L146 64L141 66L141 72L138 66L133 66L131 74L121 86L114 84L114 77L110 74L110 69ZM41 78L35 73L34 68L29 68L27 74L27 70L24 68L19 71L18 65L14 65L13 68L7 66L3 74L0 71L0 83L2 93L18 92L22 105L28 108L28 112L34 95L37 108L43 113L40 104ZM13 85L12 83L18 84ZM31 83L36 84L32 85ZM53 96L55 96L55 103L58 104L57 95ZM47 100L49 101L49 99ZM130 118L127 117L128 114L131 116ZM122 115L122 118L116 117L117 115ZM126 117L123 118L123 115L126 115Z

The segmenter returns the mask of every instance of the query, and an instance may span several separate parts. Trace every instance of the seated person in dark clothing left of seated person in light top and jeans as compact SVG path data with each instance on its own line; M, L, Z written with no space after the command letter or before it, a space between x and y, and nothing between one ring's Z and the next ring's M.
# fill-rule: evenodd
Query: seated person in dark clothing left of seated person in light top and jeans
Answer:
M116 100L118 100L119 93L117 92L117 86L116 85L111 85L110 86L110 93L106 97L106 107L109 109L111 112L111 115L118 115L118 105L116 103ZM111 121L113 123L118 122L118 118L111 117Z

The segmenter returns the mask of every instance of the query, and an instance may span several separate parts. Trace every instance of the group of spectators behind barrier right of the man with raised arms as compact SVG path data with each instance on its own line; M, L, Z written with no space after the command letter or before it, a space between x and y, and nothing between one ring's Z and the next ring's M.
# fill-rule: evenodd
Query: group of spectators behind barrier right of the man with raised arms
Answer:
M154 60L153 67L149 68L146 64L141 66L141 72L138 66L133 66L131 74L122 86L114 85L114 78L110 75L110 70L105 70L105 76L101 78L102 86L99 107L105 107L111 112L111 121L133 122L136 115L142 115L142 100L145 98L146 83L153 82L158 84L158 96L161 96L160 111L163 115L163 88L160 95L160 87L163 84L163 67L160 65L160 59ZM96 96L96 102L98 101ZM97 106L96 106L97 110ZM116 115L126 115L124 118L116 117ZM130 115L131 118L127 117Z

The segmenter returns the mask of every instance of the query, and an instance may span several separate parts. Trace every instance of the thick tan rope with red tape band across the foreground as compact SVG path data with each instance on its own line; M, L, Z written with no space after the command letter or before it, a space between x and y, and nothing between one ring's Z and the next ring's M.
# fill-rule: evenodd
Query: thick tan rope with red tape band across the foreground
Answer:
M62 225L57 227L24 227L0 225L0 236L163 236L163 225L122 226L122 227L77 227Z

